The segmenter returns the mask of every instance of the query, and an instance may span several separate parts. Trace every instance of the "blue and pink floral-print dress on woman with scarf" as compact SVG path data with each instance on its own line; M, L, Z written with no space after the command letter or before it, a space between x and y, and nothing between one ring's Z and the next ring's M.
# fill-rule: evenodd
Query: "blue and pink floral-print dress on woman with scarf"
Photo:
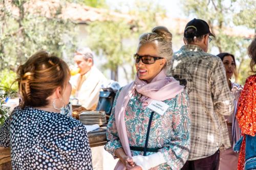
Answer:
M117 92L111 117L109 119L106 138L108 142L105 150L115 157L115 150L122 145L115 123L115 105L119 95ZM144 147L147 126L152 110L143 109L139 100L141 94L136 90L125 109L125 124L129 144L132 147ZM188 158L190 149L190 119L188 96L185 92L176 95L175 98L163 101L169 108L163 115L155 113L153 116L147 148L160 148L166 163L154 169L180 169ZM143 155L143 152L131 150L132 156ZM146 155L154 154L147 152Z

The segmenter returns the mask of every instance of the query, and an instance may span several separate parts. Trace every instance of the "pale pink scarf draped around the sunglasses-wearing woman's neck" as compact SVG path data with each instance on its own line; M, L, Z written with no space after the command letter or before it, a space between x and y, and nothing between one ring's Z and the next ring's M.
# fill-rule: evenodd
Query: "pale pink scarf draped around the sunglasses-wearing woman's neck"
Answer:
M124 114L126 106L132 98L135 89L138 93L142 94L139 100L143 102L142 105L145 109L152 100L165 101L174 98L177 94L180 94L183 91L184 87L174 78L166 77L165 69L163 69L151 83L140 80L138 76L136 76L135 82L122 88L115 106L116 128L122 148L125 154L130 157L132 157L132 154L126 132ZM121 160L117 162L115 170L125 170L125 166Z

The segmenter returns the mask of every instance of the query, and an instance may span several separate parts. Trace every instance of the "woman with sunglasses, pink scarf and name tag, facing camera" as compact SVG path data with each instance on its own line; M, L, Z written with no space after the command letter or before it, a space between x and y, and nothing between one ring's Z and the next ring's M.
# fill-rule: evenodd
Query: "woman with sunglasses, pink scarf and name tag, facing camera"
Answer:
M139 38L135 81L116 95L105 150L119 158L115 169L180 169L190 148L188 96L166 77L172 34L156 27Z

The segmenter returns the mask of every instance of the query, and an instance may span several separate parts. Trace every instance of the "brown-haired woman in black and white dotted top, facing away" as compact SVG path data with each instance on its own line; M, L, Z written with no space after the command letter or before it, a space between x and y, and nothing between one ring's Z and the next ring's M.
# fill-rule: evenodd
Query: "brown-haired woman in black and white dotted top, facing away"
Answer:
M21 102L0 127L12 169L92 169L86 128L61 114L69 103L68 65L41 51L17 71Z

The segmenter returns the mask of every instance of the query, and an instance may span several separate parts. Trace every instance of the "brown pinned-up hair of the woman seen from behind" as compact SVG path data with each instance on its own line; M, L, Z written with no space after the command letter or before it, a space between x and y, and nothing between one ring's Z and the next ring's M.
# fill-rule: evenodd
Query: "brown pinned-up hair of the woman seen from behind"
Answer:
M69 78L70 70L66 62L46 51L35 53L17 70L16 81L22 98L20 107L47 106L47 98L57 87L65 89Z

